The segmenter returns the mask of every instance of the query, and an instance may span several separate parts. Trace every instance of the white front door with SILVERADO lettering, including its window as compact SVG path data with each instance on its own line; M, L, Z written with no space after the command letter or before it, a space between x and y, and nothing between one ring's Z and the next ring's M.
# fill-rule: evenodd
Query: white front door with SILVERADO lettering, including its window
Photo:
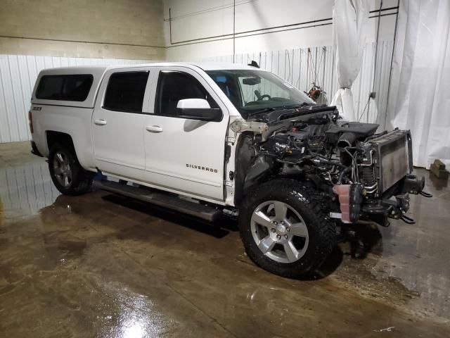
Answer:
M148 182L160 187L224 199L224 154L229 112L200 73L184 67L158 67L144 133ZM207 75L205 75L207 76ZM156 81L158 77L158 81ZM181 99L207 99L220 108L218 122L177 116Z

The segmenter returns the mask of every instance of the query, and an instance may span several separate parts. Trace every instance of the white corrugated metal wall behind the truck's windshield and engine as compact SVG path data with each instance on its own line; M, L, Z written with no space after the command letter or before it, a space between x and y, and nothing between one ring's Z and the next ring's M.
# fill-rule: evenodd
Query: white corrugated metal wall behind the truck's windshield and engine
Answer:
M364 47L361 71L352 86L354 107L361 122L376 122L383 125L387 106L392 46L392 41L378 43L374 86L376 107L367 105L368 96L372 92L376 44L373 42ZM315 82L325 90L328 104L338 90L338 81L333 66L335 63L333 46L237 54L235 58L236 63L243 64L250 63L252 60L257 61L261 68L276 73L304 92L309 92L312 83ZM201 58L198 61L233 62L233 56Z

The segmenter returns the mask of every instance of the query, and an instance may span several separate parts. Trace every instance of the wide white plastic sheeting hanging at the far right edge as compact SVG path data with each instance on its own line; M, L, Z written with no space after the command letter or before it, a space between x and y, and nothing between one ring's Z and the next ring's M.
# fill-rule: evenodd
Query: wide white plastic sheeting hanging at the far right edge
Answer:
M450 165L450 1L400 1L386 129L411 130L413 164Z

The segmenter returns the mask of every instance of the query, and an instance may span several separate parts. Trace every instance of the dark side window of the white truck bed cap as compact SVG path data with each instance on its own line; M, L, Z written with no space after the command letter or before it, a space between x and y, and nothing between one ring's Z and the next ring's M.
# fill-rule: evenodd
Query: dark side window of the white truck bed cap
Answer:
M93 81L91 74L44 75L37 86L36 98L84 101L89 95Z

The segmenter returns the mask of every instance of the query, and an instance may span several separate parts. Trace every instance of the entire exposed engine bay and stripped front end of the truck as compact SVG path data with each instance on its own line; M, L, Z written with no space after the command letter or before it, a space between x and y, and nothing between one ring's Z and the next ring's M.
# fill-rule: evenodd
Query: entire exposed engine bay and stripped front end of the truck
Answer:
M254 184L293 177L314 185L330 218L387 226L387 218L413 222L405 215L409 194L427 196L424 178L412 175L408 130L376 134L377 124L342 121L330 106L279 109L248 124L253 132L231 126L243 132L236 156L236 186L243 187L237 204Z

